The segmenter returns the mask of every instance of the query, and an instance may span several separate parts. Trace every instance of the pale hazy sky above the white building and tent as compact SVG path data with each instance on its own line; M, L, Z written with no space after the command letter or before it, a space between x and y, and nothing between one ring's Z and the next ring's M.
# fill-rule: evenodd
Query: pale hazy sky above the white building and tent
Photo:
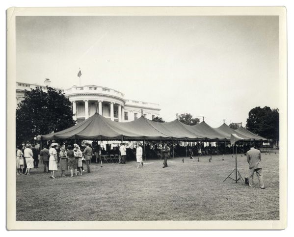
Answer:
M160 116L245 126L279 105L277 16L18 16L16 80L101 85L159 103Z

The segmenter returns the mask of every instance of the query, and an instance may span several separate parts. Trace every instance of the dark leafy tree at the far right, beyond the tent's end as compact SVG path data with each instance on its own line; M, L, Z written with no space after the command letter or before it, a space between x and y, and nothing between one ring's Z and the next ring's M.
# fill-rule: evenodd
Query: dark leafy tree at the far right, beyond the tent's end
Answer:
M246 129L260 136L279 141L279 109L252 108L248 113Z

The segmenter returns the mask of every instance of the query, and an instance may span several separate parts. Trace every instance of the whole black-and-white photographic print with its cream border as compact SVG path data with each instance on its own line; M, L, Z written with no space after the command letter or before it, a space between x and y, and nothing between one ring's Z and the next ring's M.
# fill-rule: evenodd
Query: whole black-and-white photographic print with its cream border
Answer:
M285 228L286 9L143 10L7 10L7 228Z

